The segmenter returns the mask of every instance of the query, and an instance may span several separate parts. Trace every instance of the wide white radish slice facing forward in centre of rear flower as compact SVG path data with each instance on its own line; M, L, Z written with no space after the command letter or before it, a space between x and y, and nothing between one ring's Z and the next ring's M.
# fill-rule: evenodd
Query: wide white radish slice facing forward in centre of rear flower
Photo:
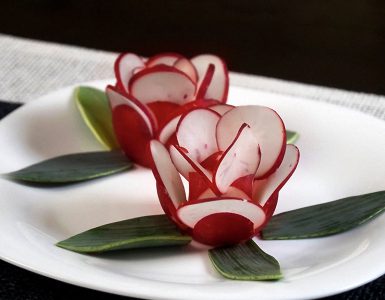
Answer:
M195 83L182 71L157 65L136 73L130 80L129 92L142 103L168 101L184 104L195 95Z

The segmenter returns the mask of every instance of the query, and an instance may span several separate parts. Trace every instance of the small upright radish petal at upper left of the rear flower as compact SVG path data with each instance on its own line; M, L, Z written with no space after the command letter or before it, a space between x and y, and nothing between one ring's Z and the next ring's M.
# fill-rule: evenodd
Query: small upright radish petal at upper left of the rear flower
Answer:
M144 66L143 60L133 53L122 53L115 61L114 71L117 79L117 86L122 91L128 92L128 82L134 70Z

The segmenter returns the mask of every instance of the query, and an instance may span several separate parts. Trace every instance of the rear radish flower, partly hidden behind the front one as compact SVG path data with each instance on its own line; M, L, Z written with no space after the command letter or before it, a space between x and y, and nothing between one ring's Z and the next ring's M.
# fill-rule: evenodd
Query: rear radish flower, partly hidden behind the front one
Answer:
M114 71L116 84L106 89L114 132L125 154L144 167L151 166L150 140L175 143L182 114L214 105L221 113L228 109L228 71L215 55L161 53L146 60L122 53Z

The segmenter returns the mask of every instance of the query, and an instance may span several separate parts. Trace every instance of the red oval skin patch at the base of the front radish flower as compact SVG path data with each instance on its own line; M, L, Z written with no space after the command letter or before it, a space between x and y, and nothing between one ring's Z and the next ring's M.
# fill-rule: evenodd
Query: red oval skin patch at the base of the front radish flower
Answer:
M230 246L254 236L253 222L232 213L216 213L199 220L192 232L194 240L210 246Z

